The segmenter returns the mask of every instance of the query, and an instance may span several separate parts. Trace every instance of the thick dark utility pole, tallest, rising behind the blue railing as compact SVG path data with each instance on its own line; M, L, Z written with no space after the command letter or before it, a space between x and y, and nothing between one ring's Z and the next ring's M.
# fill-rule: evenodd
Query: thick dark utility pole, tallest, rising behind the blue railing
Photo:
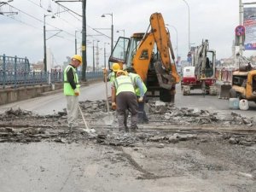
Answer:
M82 3L82 10L83 10L83 27L82 27L82 58L83 58L83 65L82 65L82 80L86 81L86 68L87 68L87 58L86 58L86 0L83 0Z

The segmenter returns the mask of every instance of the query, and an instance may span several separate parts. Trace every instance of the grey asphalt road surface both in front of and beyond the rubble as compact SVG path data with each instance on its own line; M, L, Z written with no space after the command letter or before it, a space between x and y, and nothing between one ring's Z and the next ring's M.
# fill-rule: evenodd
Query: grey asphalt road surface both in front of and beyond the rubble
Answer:
M80 101L104 99L104 88L103 83L82 88ZM55 113L66 107L66 101L62 93L57 93L0 108L4 111L18 106L42 114ZM179 90L176 107L231 112L228 101L219 100L218 96L204 97L199 93L182 96ZM254 108L247 112L236 112L247 115L255 113ZM4 122L4 119L0 120ZM44 120L45 124L49 121ZM15 119L8 123L8 127L0 127L0 134L6 134L3 130L13 131ZM134 137L138 137L139 141L126 147L124 144L102 144L78 132L74 136L80 140L73 143L58 139L30 143L1 142L0 191L254 192L256 189L256 145L234 144L235 139L230 143L230 133L218 132L218 128L213 132L192 131L185 134L186 138L191 139L179 142L169 142L175 136L172 125L169 135L160 131L120 133L117 129L108 130L106 127L102 127L102 131L123 143ZM147 134L151 134L151 140L143 139ZM162 134L161 137L159 134ZM178 134L184 136L182 132ZM245 138L254 136L255 133L251 131ZM160 142L157 141L158 137Z

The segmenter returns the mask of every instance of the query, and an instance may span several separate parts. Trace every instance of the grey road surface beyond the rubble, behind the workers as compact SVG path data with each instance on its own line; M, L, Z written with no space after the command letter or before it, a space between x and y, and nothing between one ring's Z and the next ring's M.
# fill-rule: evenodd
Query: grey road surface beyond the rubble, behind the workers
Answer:
M108 96L111 96L110 84L108 83ZM106 89L103 82L92 83L89 86L81 88L81 95L79 101L95 101L105 100ZM218 96L203 96L201 90L191 90L190 96L183 96L180 89L180 84L177 84L177 94L175 97L175 106L177 108L200 108L210 111L216 111L218 113L241 113L247 117L255 116L256 105L254 102L250 102L250 108L247 111L230 110L229 101L218 99ZM9 103L0 106L0 113L9 108L21 108L29 111L33 111L38 114L53 114L62 111L66 108L66 99L63 96L62 91L49 96L40 96L37 98L29 99L21 102Z

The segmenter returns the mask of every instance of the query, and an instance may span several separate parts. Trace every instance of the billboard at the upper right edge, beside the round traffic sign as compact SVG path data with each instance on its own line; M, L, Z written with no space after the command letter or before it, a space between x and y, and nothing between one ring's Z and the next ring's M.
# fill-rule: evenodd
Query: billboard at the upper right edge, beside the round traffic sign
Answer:
M245 27L246 50L256 50L256 8L243 9L243 26Z

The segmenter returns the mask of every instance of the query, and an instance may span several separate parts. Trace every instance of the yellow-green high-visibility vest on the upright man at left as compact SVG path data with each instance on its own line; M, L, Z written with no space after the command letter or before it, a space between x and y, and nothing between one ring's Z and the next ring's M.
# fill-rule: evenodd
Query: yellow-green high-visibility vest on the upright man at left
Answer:
M75 95L72 86L67 81L67 71L70 68L72 68L72 70L73 70L73 80L74 80L75 84L77 84L77 89L79 89L79 87L80 87L79 75L77 74L77 70L75 69L75 67L68 65L64 70L64 88L63 88L63 90L64 90L64 95L66 95L66 96L74 96Z

